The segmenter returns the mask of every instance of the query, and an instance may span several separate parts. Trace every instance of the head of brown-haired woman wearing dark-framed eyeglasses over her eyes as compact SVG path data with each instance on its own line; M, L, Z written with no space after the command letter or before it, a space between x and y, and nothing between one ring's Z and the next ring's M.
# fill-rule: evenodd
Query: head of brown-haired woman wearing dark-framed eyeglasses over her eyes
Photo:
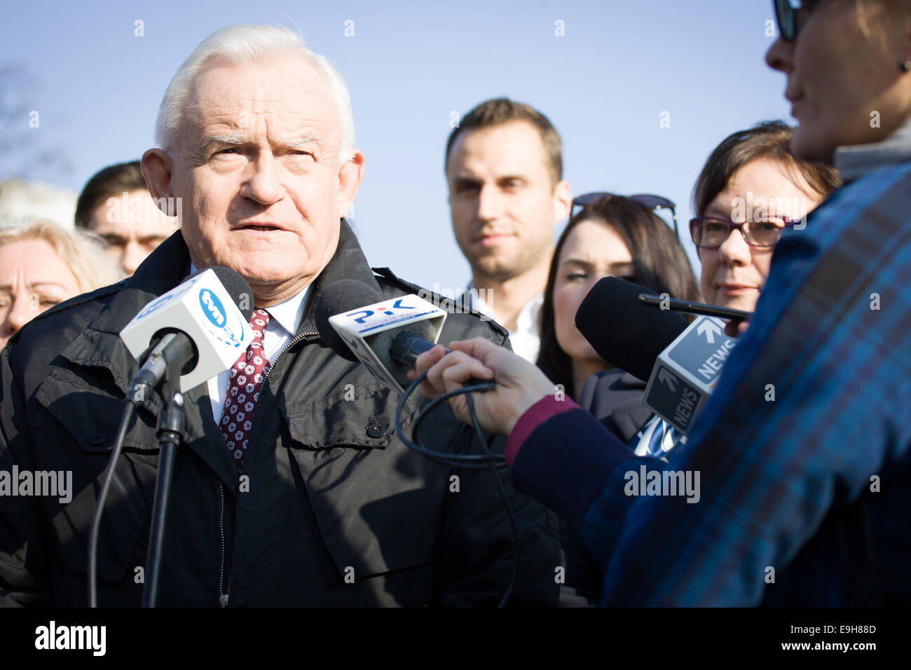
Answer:
M794 156L793 128L766 121L732 133L706 160L693 194L692 242L706 303L752 312L788 227L841 185L831 167Z

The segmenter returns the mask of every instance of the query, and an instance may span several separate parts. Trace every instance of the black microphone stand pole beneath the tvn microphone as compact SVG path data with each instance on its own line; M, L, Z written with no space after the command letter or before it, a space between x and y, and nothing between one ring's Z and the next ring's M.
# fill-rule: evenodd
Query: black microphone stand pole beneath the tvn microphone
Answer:
M161 390L164 400L159 413L159 472L155 479L155 501L152 504L152 525L148 532L148 556L146 558L146 587L142 592L142 606L155 607L159 592L161 551L164 548L165 521L168 518L171 480L174 477L174 458L177 448L184 440L184 397L177 386L177 380L166 383Z

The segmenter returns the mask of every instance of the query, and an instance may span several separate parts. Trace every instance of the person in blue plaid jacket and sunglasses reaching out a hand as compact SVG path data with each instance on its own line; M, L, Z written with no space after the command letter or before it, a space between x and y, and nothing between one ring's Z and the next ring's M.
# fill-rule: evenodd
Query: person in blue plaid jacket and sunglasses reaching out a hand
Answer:
M783 232L686 448L667 469L646 459L700 473L698 504L630 500L627 448L501 347L450 343L417 362L425 397L496 379L476 394L479 423L510 433L516 489L597 554L604 605L911 603L911 3L773 9L766 61L787 77L793 152L844 186ZM467 419L464 399L450 404Z

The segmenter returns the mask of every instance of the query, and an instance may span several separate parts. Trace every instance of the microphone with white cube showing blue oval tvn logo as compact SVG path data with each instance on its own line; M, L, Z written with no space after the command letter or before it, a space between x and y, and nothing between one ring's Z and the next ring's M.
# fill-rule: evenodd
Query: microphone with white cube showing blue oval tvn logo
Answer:
M120 331L142 362L133 399L144 403L165 380L179 376L183 392L227 370L253 338L252 305L250 284L226 267L194 273L148 303Z

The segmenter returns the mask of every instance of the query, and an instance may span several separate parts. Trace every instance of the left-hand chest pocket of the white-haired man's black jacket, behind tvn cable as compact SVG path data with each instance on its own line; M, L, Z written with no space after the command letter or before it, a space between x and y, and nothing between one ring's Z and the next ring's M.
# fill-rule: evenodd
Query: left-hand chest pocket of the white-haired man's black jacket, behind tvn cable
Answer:
M68 370L54 370L36 390L45 408L36 418L36 463L39 469L71 473L72 499L49 500L56 559L64 569L88 572L88 536L104 470L117 436L122 399L100 390ZM145 562L141 555L148 537L148 518L158 471L159 446L155 428L133 419L124 438L107 494L97 543L99 581L121 582L129 569ZM53 508L57 509L53 509ZM143 534L144 533L144 534ZM139 546L139 545L142 546Z

